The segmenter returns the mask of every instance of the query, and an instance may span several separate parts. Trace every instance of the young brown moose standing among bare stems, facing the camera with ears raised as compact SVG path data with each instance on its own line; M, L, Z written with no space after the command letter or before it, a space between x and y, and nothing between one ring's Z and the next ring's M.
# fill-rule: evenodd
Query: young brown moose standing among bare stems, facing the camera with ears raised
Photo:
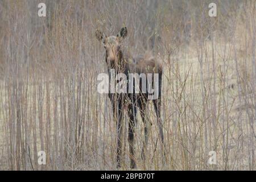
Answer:
M164 135L163 135L163 124L160 117L160 104L161 104L161 88L162 88L162 64L160 61L156 61L153 56L146 53L143 56L133 57L126 53L122 48L122 40L127 36L127 28L123 27L116 36L106 36L100 30L96 30L96 38L102 42L106 51L105 61L108 66L108 73L110 77L110 69L114 69L115 73L123 73L127 77L129 73L157 73L158 84L154 81L152 85L158 85L158 98L153 101L154 109L157 117L157 123L159 128L159 137L162 144L162 152L164 152ZM141 80L141 78L139 78ZM117 80L118 81L118 80ZM130 81L130 80L129 80ZM135 82L134 82L135 84ZM117 123L117 168L121 167L121 156L122 156L122 131L123 131L123 113L127 108L127 115L129 118L128 122L128 142L130 152L130 167L131 169L136 168L135 163L135 139L134 139L134 128L136 126L136 115L137 110L140 111L142 121L144 123L144 140L142 147L141 158L145 159L145 151L148 143L148 127L149 123L146 121L146 107L148 103L149 93L142 92L141 81L139 83L139 93L110 93L109 99L112 104L113 119ZM110 88L110 86L109 86ZM165 152L164 152L165 155Z

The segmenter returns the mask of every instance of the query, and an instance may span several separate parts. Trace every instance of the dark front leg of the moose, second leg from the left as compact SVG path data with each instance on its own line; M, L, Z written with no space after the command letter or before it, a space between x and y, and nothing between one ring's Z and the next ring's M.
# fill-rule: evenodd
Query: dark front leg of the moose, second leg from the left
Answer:
M129 129L128 129L128 142L129 142L129 150L130 150L130 160L131 160L131 168L136 168L135 158L134 158L134 128L135 128L135 118L136 118L137 108L134 104L129 105L128 115L129 115Z

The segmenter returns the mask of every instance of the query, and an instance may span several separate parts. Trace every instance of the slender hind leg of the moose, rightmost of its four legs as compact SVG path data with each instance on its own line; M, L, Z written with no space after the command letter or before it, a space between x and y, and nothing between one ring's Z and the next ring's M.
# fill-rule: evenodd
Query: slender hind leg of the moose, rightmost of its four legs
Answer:
M166 151L165 151L165 146L164 146L164 136L163 136L163 123L162 123L162 119L160 117L160 100L159 99L154 100L154 108L155 108L158 127L159 127L159 137L160 137L161 145L162 145L161 148L162 148L163 155L166 156ZM164 163L164 161L165 160L163 159L163 163Z

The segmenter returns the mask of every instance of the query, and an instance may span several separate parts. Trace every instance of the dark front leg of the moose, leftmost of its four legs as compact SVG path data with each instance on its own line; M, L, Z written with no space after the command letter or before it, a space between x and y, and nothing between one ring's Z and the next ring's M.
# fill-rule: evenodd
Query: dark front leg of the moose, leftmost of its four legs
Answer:
M117 168L121 167L121 155L122 155L122 133L123 133L123 109L122 102L112 102L113 103L113 115L114 120L117 122Z

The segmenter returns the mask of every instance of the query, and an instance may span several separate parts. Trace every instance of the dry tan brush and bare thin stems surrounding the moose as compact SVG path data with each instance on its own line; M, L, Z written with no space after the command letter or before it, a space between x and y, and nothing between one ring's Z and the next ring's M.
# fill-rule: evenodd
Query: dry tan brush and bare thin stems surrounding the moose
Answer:
M125 25L126 49L153 48L164 62L167 160L148 105L144 163L141 119L135 132L138 168L255 170L256 2L212 1L215 18L210 2L0 1L0 169L115 169L116 127L108 97L97 93L105 52L94 32ZM127 116L124 132L129 169ZM47 164L39 166L41 150ZM212 150L217 165L207 163Z

